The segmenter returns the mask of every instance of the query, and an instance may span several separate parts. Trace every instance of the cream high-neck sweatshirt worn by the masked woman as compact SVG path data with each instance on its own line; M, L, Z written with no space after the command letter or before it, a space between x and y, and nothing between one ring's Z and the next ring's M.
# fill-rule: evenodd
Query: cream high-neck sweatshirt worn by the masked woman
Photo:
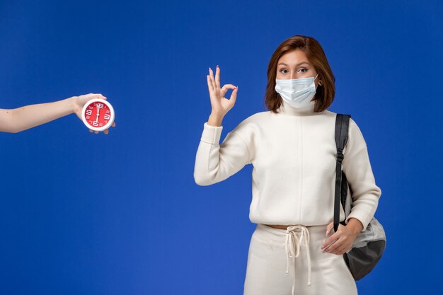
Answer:
M249 219L255 224L315 226L333 221L335 112L296 109L283 101L279 113L258 112L219 140L223 127L205 122L195 158L194 179L212 185L253 165ZM350 119L343 171L352 189L350 218L364 231L379 202L366 141ZM345 219L340 206L340 221Z

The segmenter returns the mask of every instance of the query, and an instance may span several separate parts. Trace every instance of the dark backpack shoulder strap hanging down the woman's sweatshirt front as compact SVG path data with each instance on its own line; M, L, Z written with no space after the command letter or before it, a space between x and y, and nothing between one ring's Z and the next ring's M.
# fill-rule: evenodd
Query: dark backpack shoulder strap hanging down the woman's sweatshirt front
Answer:
M335 145L337 146L335 166L334 231L337 232L340 219L340 192L342 186L343 149L347 143L347 132L351 115L337 114L335 118Z

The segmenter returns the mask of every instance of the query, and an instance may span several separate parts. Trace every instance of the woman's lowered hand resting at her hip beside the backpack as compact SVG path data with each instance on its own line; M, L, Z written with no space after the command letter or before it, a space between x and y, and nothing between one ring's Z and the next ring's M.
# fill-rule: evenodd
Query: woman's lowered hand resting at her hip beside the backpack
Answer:
M346 226L338 224L337 232L330 236L325 243L323 243L323 246L321 247L323 253L343 255L352 248L352 243L354 243L355 238L357 238L359 231L358 229L356 230L349 225L349 223ZM328 236L333 228L334 224L331 222L326 228L326 236ZM329 244L331 245L328 247Z

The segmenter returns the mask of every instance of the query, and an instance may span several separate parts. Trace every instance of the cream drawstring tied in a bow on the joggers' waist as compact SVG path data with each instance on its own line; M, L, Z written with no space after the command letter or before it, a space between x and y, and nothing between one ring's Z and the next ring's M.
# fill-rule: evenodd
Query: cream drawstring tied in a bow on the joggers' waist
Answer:
M284 249L287 253L286 273L289 273L289 258L297 258L300 254L300 245L304 242L306 246L306 255L308 258L308 285L311 286L311 255L309 253L309 231L306 226L296 225L288 226L286 229L286 241ZM294 252L295 251L295 252ZM292 282L292 295L295 289L295 268L294 268L294 282Z

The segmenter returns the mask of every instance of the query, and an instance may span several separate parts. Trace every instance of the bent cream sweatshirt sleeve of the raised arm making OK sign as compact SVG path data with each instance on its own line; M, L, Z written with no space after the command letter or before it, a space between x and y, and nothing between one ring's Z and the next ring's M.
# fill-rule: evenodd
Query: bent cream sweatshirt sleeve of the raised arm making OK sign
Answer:
M219 144L223 127L214 127L205 122L195 156L194 180L197 185L219 183L251 163L248 144L241 137L241 132L236 132L244 130L243 127L238 126L226 134L222 144Z

